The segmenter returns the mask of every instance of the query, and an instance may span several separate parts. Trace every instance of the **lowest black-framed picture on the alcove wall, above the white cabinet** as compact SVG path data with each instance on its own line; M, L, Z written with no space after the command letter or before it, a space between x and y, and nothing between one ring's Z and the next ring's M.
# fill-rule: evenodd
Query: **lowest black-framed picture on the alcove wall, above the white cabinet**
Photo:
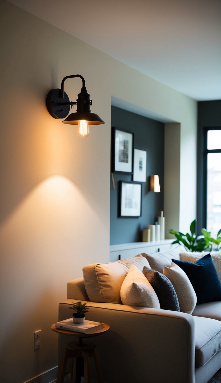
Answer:
M141 216L142 184L120 181L120 217Z

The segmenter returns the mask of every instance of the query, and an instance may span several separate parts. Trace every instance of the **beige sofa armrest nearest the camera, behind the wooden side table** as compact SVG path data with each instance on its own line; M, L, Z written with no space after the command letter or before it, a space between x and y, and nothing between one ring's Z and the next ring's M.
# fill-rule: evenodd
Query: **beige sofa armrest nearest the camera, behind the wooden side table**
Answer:
M59 304L59 320L70 318L70 300ZM94 337L104 380L111 383L194 383L195 325L176 311L87 301L86 319L110 325ZM59 349L69 336L59 336Z

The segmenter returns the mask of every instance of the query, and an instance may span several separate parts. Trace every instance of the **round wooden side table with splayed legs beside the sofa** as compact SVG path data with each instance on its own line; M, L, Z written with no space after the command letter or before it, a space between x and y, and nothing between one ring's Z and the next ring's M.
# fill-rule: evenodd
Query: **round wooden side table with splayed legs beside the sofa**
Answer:
M102 329L90 332L89 334L84 334L81 332L57 329L57 327L55 327L55 324L51 326L51 329L55 332L58 332L59 334L73 335L79 338L78 341L69 342L68 344L66 344L63 357L61 359L61 363L58 368L57 383L63 383L64 381L64 375L65 375L68 358L73 358L73 373L72 373L73 383L81 382L81 367L79 363L80 360L83 360L83 364L84 364L84 383L89 383L90 381L89 357L94 357L98 381L99 383L103 383L101 364L100 364L100 358L99 358L99 352L98 352L97 346L92 342L82 342L82 339L101 335L103 332L106 332L107 330L109 330L109 328L110 326L104 323L104 327ZM82 359L79 359L79 358L82 358Z

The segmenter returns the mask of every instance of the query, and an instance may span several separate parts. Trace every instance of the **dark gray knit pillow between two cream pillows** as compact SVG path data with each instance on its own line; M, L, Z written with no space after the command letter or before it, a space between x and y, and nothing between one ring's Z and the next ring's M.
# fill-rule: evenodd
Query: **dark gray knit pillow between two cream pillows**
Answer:
M143 267L143 274L157 294L160 308L164 310L180 311L176 291L170 280L162 273L152 270L147 266Z

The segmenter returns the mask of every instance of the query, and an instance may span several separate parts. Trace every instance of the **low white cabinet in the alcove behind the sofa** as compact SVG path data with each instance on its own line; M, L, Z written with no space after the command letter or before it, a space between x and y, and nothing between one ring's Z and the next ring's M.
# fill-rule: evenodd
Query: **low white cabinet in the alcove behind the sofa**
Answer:
M155 242L132 242L120 245L110 246L110 262L118 261L119 259L135 257L140 253L158 253L170 250L173 245L173 239L164 239Z

